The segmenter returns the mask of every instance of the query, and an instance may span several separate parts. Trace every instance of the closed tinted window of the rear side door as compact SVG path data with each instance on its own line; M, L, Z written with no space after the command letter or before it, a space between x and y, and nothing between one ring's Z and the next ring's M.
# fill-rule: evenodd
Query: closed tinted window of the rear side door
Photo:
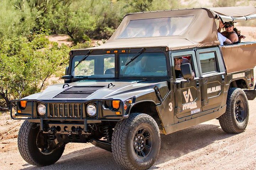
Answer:
M215 52L199 53L202 74L218 72Z

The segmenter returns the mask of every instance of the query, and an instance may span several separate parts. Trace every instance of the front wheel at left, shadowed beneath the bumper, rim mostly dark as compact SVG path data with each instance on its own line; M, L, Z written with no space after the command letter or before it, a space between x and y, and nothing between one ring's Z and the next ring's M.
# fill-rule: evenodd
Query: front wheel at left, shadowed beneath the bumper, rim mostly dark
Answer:
M22 158L32 165L47 166L59 160L64 151L64 143L49 140L47 134L39 130L37 123L25 120L18 132L18 150Z

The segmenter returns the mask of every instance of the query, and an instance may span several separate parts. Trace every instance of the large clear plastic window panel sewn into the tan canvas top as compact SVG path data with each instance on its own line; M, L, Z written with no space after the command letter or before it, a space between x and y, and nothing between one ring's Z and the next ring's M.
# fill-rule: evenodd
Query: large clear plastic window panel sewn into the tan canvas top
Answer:
M182 35L194 16L130 20L117 39Z

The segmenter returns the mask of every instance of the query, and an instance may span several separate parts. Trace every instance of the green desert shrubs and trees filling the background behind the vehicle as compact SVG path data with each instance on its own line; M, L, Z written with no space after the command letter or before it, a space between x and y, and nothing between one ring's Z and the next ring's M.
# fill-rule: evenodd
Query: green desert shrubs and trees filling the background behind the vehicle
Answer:
M256 1L1 0L0 110L8 110L14 98L43 90L52 75L61 77L71 49L92 46L91 39L110 38L126 13L246 5L255 6ZM63 34L70 46L49 41L51 35Z

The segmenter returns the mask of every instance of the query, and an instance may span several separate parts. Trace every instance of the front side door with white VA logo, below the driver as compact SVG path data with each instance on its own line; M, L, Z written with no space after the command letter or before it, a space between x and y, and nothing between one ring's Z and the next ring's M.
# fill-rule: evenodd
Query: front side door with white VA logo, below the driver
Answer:
M185 80L175 77L174 58L182 57L184 62L191 64L195 74L194 80ZM185 59L189 58L188 61ZM175 96L175 115L178 119L191 119L202 111L201 106L201 85L199 81L199 71L196 64L196 55L194 51L175 52L171 53L170 61L172 62L172 70L174 76L174 96ZM179 120L177 120L178 122Z

